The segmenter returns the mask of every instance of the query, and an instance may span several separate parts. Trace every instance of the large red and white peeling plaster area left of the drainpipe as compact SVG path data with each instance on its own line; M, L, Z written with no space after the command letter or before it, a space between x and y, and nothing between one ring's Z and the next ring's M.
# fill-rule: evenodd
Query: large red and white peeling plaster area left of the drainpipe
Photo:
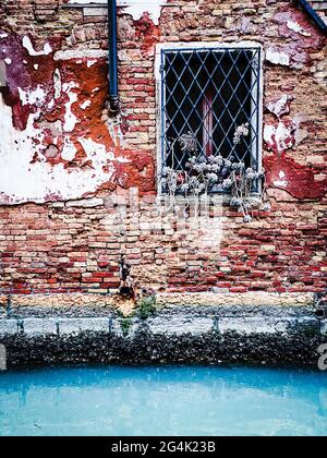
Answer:
M28 56L31 40L24 47L15 34L0 43L4 57L14 57L0 92L0 205L84 198L112 189L117 168L123 173L126 165L137 180L128 157L133 152L114 146L121 143L119 123L101 119L106 60L96 57L89 69L85 57L77 64L32 49Z

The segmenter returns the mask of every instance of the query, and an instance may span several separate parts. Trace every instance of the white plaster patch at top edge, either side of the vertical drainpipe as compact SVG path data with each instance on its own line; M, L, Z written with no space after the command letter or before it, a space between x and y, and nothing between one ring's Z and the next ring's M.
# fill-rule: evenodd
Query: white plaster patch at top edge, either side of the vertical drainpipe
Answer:
M76 7L101 7L107 5L108 0L70 0L69 4ZM124 9L126 14L131 14L134 21L138 21L147 12L155 24L159 23L161 8L167 0L118 0L117 5Z

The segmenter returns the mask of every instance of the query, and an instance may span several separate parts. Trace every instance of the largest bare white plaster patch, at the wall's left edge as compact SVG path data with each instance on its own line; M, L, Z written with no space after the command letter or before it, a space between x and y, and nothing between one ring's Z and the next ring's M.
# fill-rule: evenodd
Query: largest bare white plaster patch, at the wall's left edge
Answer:
M24 131L14 129L12 109L0 95L0 203L76 200L94 193L112 179L113 153L108 154L104 145L93 141L84 141L86 160L92 162L93 168L81 170L65 169L63 164L51 166L43 154L43 130L35 126L38 117L39 110L29 114ZM83 144L83 138L80 141ZM35 154L39 160L32 164Z

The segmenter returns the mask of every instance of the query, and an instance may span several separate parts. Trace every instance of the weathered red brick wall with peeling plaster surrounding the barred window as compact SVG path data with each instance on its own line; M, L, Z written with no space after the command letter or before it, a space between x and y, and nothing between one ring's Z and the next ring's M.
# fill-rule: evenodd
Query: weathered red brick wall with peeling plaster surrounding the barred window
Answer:
M8 80L0 96L0 291L111 291L122 258L140 288L323 291L326 43L307 15L291 1L178 0L157 25L120 9L114 118L106 108L106 15L62 3L0 5ZM133 209L122 229L110 197L133 186L149 200L156 194L155 45L201 40L264 47L271 212L243 224L223 207L222 237L169 225L140 230Z

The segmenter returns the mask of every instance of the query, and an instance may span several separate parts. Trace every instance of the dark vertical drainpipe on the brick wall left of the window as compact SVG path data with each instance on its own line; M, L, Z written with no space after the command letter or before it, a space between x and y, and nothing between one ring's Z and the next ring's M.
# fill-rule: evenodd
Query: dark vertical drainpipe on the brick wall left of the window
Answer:
M109 28L109 108L119 111L118 96L118 57L117 57L117 0L108 0Z

